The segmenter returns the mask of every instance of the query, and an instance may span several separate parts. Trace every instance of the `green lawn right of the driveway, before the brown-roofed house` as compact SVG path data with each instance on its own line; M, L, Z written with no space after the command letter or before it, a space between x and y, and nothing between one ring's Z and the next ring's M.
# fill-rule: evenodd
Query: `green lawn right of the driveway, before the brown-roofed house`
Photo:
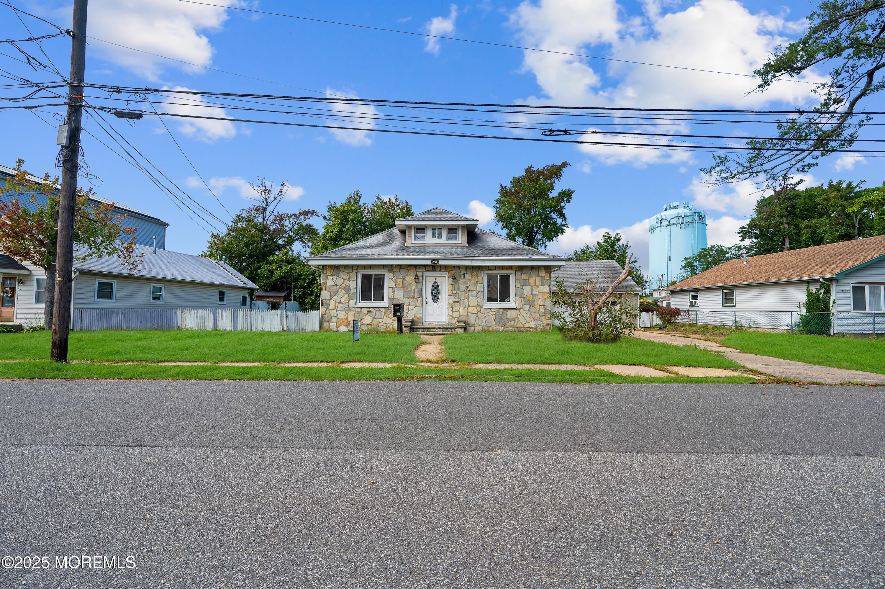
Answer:
M724 344L746 353L885 374L885 339L881 338L856 339L737 331L726 337Z

